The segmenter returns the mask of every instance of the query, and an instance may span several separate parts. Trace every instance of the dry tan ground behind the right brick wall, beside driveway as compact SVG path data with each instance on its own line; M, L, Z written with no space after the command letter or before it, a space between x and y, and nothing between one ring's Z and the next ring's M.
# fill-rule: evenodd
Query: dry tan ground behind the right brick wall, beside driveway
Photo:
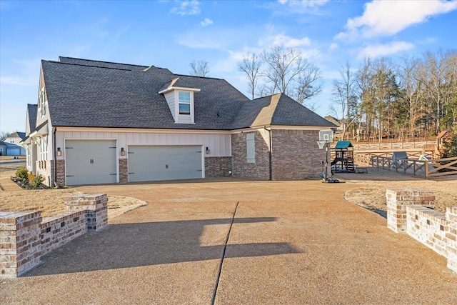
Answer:
M446 211L446 206L457 206L457 176L437 180L404 176L394 171L368 168L368 174L336 174L343 182L364 184L346 191L344 199L368 209L386 211L387 189L426 189L436 197L435 208Z

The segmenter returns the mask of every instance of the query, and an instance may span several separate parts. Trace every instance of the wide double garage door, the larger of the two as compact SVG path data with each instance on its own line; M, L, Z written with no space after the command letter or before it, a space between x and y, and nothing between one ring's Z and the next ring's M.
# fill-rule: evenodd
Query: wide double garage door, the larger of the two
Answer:
M199 178L201 146L129 146L129 181Z

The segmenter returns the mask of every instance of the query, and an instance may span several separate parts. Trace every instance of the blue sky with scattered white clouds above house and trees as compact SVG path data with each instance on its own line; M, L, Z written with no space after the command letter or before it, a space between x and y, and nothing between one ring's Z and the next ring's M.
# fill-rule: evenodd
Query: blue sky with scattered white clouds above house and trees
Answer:
M316 112L329 113L331 83L363 56L457 48L457 1L0 1L0 131L25 131L40 60L71 56L154 65L209 76L248 95L236 62L273 44L300 49L321 69ZM77 84L75 84L77 85Z

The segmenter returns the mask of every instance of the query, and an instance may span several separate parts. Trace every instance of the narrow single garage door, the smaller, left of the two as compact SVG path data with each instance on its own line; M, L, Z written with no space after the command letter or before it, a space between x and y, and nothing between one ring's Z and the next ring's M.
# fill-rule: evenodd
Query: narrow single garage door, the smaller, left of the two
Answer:
M117 182L115 140L66 140L66 184Z

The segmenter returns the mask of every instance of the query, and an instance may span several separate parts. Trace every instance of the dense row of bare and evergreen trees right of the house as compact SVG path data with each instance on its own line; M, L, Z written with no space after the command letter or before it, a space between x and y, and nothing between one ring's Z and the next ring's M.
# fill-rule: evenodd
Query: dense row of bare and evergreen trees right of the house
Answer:
M366 58L356 71L341 66L333 81L333 114L343 114L343 136L357 141L426 139L457 120L457 51L420 57Z

